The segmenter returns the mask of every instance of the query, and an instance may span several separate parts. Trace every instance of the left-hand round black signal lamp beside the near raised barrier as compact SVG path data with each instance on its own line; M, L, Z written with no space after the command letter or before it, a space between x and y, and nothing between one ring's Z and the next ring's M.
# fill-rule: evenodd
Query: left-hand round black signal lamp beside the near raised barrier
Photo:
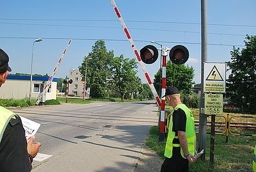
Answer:
M153 45L146 45L140 50L140 58L146 64L154 63L158 58L158 51Z

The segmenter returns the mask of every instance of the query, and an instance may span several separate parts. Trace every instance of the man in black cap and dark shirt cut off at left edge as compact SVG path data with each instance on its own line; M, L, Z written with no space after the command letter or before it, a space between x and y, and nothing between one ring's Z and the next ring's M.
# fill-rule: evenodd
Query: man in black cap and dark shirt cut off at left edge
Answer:
M8 55L0 49L0 87L12 71L8 62ZM20 117L0 106L0 171L31 171L33 157L41 146L34 141L33 136L27 143Z

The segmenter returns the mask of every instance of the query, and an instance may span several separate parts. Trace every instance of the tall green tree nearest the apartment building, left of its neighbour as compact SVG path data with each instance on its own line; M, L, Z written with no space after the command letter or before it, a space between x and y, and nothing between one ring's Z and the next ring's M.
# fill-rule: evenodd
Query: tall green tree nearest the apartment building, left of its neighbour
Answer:
M93 98L105 98L108 96L108 80L111 78L111 64L114 54L107 51L105 42L98 40L92 47L92 52L84 57L83 63L79 66L81 74L85 74L86 61L86 87L90 87L90 95ZM83 76L84 80L84 76Z

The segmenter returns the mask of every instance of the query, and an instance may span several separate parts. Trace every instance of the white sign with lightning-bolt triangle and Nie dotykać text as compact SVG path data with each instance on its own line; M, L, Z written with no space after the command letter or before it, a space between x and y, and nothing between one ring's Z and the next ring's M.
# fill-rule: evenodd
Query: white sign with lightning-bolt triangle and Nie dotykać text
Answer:
M225 93L226 63L204 63L204 92Z

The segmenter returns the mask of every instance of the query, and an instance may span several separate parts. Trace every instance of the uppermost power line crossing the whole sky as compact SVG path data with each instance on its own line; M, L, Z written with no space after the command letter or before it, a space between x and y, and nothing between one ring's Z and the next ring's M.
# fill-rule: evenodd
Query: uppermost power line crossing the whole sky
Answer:
M96 21L96 22L118 22L117 20L103 19L0 19L0 20L35 20L35 21ZM200 25L200 22L168 22L168 21L150 21L150 20L126 20L126 22L145 22L145 23L164 23L164 24L195 24ZM233 26L233 27L256 27L255 25L242 24L211 24L213 26Z

